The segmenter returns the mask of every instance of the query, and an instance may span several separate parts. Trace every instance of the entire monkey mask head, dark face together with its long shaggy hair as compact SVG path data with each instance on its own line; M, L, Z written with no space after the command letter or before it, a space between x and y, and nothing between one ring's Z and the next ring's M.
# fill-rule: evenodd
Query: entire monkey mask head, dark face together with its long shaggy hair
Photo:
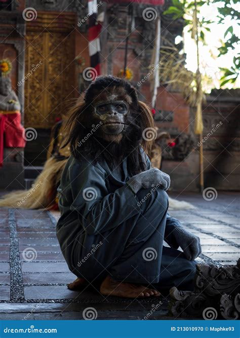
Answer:
M70 110L65 145L70 143L76 158L102 158L110 166L128 157L130 172L137 173L144 169L140 147L151 149L152 139L144 137L149 129L154 129L152 114L137 90L124 79L101 76Z

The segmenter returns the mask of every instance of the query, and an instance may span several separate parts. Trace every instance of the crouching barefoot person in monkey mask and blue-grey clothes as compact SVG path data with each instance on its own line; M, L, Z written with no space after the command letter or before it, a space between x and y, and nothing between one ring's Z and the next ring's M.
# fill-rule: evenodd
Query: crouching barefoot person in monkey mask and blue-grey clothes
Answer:
M97 78L70 111L57 223L77 276L70 289L97 282L104 295L130 298L193 289L201 245L168 213L170 177L145 153L153 129L134 87L112 76Z

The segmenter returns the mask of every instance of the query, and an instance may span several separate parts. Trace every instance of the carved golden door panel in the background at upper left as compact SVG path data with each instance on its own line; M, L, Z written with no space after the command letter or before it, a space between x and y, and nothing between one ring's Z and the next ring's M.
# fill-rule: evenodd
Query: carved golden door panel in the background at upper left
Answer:
M66 32L26 35L25 127L51 128L73 98L74 38Z

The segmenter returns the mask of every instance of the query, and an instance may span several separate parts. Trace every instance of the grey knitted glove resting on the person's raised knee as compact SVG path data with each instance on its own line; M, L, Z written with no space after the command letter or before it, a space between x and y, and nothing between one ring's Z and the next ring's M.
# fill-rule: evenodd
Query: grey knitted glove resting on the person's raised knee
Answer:
M154 186L163 190L168 190L170 186L170 177L168 174L165 174L165 172L157 168L152 168L131 177L127 181L127 184L135 194L142 188L148 189Z

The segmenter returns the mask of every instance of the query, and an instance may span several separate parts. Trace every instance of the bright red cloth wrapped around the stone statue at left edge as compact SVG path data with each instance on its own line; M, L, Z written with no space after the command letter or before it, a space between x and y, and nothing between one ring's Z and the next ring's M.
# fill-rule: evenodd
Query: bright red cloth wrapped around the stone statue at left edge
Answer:
M0 167L3 165L4 147L24 148L24 128L21 125L21 114L0 114Z

